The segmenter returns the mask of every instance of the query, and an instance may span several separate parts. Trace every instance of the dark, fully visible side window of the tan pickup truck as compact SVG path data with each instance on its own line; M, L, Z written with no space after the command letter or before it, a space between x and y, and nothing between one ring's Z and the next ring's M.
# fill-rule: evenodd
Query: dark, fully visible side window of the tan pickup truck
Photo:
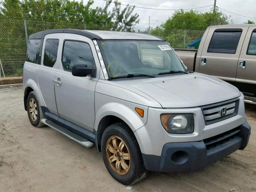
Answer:
M215 30L207 52L235 54L242 30Z

